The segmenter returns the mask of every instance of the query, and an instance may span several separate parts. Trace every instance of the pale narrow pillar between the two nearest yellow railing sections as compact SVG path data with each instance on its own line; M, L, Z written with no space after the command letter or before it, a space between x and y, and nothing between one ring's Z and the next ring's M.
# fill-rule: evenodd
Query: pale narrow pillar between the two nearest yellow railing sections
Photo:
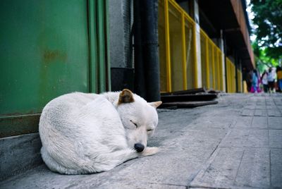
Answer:
M202 64L201 64L201 40L200 40L200 18L198 1L193 0L194 4L194 20L196 23L196 65L197 65L197 86L202 87Z

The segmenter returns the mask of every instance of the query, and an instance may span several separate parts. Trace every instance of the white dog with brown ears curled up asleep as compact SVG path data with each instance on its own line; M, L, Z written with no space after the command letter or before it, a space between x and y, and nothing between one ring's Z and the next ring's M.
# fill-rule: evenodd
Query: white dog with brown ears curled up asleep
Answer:
M158 123L156 108L130 90L53 99L39 122L42 159L51 171L65 174L108 171L135 157L152 155L147 136Z

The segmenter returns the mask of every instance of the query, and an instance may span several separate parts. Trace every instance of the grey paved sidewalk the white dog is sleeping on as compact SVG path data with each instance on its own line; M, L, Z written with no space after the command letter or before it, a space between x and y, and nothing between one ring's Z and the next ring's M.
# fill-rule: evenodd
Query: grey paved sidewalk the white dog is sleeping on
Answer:
M282 188L282 94L223 94L219 104L159 110L152 157L103 173L38 166L0 188Z

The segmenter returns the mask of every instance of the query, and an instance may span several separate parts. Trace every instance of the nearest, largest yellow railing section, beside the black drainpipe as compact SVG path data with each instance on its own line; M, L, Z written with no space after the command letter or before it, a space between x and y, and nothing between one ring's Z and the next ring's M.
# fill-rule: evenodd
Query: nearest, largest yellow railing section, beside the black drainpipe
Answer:
M159 0L161 92L197 86L195 22L173 0Z

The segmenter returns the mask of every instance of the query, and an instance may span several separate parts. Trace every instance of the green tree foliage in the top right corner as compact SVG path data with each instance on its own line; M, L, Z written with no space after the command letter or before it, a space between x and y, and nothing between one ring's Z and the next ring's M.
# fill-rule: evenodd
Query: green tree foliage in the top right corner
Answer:
M251 0L250 3L255 14L252 21L257 25L255 55L259 59L269 56L272 61L282 59L282 0Z

